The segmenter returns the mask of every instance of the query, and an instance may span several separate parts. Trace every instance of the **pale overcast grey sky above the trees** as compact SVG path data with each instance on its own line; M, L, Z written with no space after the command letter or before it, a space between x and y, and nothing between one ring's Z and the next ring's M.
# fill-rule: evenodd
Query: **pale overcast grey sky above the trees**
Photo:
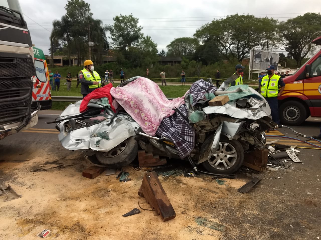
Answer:
M152 40L158 44L159 51L162 49L167 51L166 46L174 38L192 37L195 30L203 24L235 13L287 20L306 12L321 12L320 0L91 0L86 2L90 3L93 18L102 20L104 24L113 24L113 17L116 15L132 13L134 17L139 18L139 25L143 27L144 35L151 36ZM45 54L48 54L50 47L52 21L60 19L66 13L64 8L66 3L67 0L20 1L32 43L41 48Z

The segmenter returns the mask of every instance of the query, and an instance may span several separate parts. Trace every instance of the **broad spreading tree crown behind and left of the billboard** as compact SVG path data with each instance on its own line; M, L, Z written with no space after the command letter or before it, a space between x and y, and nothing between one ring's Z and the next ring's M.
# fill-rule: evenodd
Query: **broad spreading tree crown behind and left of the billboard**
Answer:
M265 34L262 24L266 24L268 20L253 15L234 14L203 25L196 30L194 36L202 44L212 42L213 47L217 48L225 59L236 58L242 61L249 56L253 47L260 44Z

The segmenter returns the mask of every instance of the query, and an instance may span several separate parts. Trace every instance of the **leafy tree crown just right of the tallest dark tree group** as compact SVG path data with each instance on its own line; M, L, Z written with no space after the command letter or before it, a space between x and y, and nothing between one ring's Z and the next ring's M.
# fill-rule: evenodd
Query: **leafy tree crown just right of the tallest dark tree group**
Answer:
M113 45L120 50L126 47L137 46L139 39L143 36L141 33L143 27L138 26L138 18L132 14L121 15L113 18L114 25L108 25Z

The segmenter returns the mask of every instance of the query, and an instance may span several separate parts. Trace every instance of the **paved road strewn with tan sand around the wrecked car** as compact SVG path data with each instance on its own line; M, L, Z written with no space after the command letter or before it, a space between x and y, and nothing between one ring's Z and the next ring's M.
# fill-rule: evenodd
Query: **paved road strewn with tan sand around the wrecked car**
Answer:
M85 231L82 226L87 226L89 220L96 219L96 222L88 225L85 232L87 237L96 234L97 229L94 229L93 226L99 225L100 222L103 222L101 228L104 229L105 226L113 224L115 221L113 218L118 219L115 224L121 225L119 224L121 218L119 214L119 216L110 215L111 218L109 218L109 212L108 214L100 212L103 207L99 204L108 206L108 211L116 208L117 211L122 212L121 214L137 206L137 199L134 196L137 196L136 189L139 188L142 176L135 176L135 174L141 174L141 172L128 168L132 174L131 177L135 176L132 179L135 185L129 185L131 183L120 185L115 181L114 176L108 178L109 176L104 175L94 180L84 180L81 177L81 172L89 164L80 154L76 155L77 151L71 152L62 148L54 124L45 124L45 122L53 121L59 112L41 111L39 123L36 126L0 141L0 183L10 183L19 194L23 195L21 200L0 202L0 215L5 218L2 223L0 222L0 226L3 227L2 229L12 226L10 229L12 235L9 235L7 231L8 235L4 235L2 239L16 239L20 236L18 234L22 234L21 239L31 239L30 236L34 236L35 231L41 231L44 228L54 228L52 230L56 230L59 234L65 234L65 232L69 232L69 230L65 230L66 226L71 226L70 232L73 234L79 234ZM306 135L314 135L319 131L320 119L310 118L302 126L293 128ZM286 128L280 129L280 133L296 137ZM283 143L286 144L286 142ZM226 230L220 238L222 240L317 239L317 237L321 237L320 153L320 150L302 149L299 158L304 164L291 163L287 169L281 168L277 172L263 173L261 175L263 180L250 193L243 195L237 192L237 188L233 184L239 179L244 182L249 180L246 178L247 170L245 168L238 171L237 179L228 180L230 182L227 187L216 184L211 178L205 180L204 176L195 177L195 179L170 176L168 180L163 180L164 184L170 183L176 189L184 189L187 183L194 184L199 181L201 181L201 185L196 185L198 186L196 188L195 185L189 185L188 192L179 195L179 200L174 202L177 206L175 211L178 216L169 222L169 224L176 223L176 225L172 225L175 226L175 230L166 228L166 233L171 230L172 232L178 231L180 224L175 221L187 219L188 228L184 231L181 230L180 233L193 234L195 230L191 229L194 229L192 227L196 225L195 223L193 225L193 222L197 216L202 216L209 220L215 219L215 222L221 222L226 226ZM186 166L188 167L188 164ZM164 171L168 171L168 169ZM81 184L81 190L73 192L73 189L77 188L79 184ZM122 188L118 189L115 186ZM173 199L175 194L173 190L168 190L169 185L167 186L166 192ZM226 191L223 190L225 188ZM132 189L134 189L134 193L128 193ZM223 194L220 195L220 193ZM130 200L125 198L127 195ZM87 199L87 196L90 197ZM192 196L195 198L191 198ZM33 202L36 204L32 205ZM118 202L120 205L115 205ZM130 203L130 205L124 208L125 203ZM181 203L190 204L187 215L180 214L184 210L178 207ZM77 206L77 209L73 208L74 205ZM83 212L83 206L88 207L85 209L86 212ZM37 212L38 208L42 209L40 213ZM60 208L63 211L59 212ZM150 222L159 220L155 220L152 215L147 215L146 212L142 211L139 222L151 224ZM82 218L82 216L85 217ZM103 216L103 219L99 216ZM145 218L143 218L144 216ZM133 222L133 220L130 221ZM60 228L56 227L59 223L63 225ZM76 226L80 227L76 228ZM111 229L113 228L115 226L111 227ZM158 231L159 227L148 227L142 231L148 234L150 229L153 229L152 234L155 235L155 231ZM195 239L217 239L215 237L201 238L204 235L202 231L205 231L206 228L200 229L197 230L199 235L198 238L194 237ZM171 234L173 234L172 232ZM30 236L25 236L28 233ZM215 232L211 230L211 234L213 233ZM106 232L104 234L106 236ZM108 234L110 233L108 232ZM142 238L144 237L140 239ZM67 239L67 237L57 239ZM79 237L79 239L87 238ZM169 237L168 239L178 238Z

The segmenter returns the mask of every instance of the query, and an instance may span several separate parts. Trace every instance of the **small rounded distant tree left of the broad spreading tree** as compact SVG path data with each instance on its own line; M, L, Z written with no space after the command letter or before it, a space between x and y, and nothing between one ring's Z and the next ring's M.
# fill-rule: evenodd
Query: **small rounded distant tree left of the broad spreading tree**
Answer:
M166 47L168 49L167 56L175 57L191 57L198 46L198 41L192 37L175 38Z

